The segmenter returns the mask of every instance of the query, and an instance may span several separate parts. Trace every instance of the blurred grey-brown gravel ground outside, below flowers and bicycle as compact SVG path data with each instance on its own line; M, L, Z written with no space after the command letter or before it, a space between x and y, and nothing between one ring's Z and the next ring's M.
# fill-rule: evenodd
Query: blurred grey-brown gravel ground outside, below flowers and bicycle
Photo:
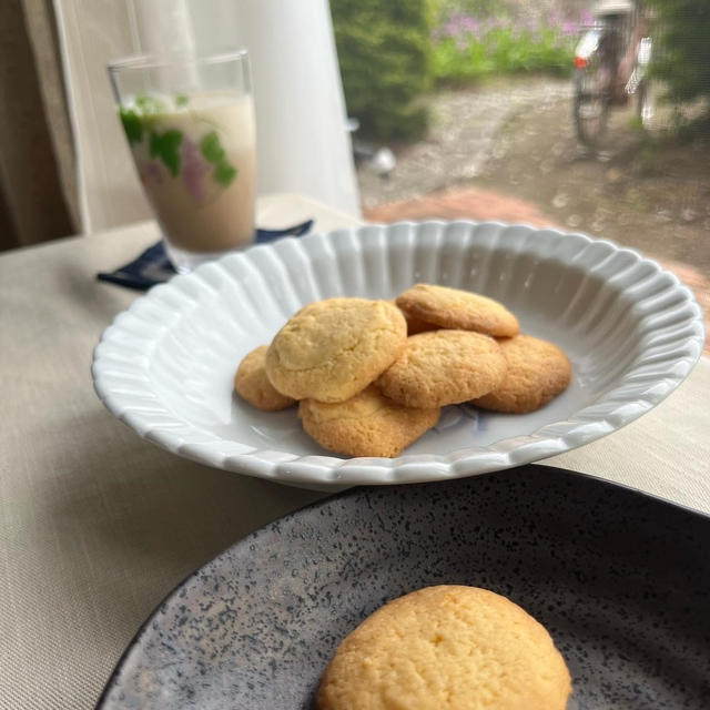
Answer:
M586 152L575 138L571 83L561 80L443 91L432 109L429 134L395 150L389 179L358 170L366 213L479 187L526 201L551 224L710 275L708 143L651 145L627 109L612 113L605 150ZM395 214L396 205L387 210Z

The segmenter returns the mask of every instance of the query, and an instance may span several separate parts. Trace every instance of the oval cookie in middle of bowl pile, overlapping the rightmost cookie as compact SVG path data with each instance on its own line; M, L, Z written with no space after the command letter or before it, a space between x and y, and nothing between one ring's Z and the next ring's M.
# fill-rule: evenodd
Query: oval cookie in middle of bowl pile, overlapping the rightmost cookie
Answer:
M407 407L443 407L480 397L505 375L506 359L491 337L442 329L408 337L402 355L376 384Z

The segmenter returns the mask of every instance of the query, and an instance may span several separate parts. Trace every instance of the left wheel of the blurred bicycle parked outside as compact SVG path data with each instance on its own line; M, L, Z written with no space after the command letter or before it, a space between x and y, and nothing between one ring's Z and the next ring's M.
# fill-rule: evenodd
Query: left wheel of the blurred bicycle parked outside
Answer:
M597 146L609 118L610 87L608 70L592 57L575 77L575 128L580 143Z

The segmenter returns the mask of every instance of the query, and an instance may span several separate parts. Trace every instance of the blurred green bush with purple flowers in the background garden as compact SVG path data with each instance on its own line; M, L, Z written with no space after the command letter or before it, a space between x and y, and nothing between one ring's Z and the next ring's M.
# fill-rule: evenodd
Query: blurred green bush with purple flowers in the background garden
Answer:
M579 23L551 16L546 22L454 13L434 32L434 77L464 83L494 73L568 74Z

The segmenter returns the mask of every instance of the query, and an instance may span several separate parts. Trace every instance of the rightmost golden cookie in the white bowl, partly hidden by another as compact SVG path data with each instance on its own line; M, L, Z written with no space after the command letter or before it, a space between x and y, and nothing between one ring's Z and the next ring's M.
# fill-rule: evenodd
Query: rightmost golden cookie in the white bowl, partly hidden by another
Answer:
M476 406L510 414L535 412L569 385L572 368L557 345L531 335L499 343L508 373L493 392L474 399Z

